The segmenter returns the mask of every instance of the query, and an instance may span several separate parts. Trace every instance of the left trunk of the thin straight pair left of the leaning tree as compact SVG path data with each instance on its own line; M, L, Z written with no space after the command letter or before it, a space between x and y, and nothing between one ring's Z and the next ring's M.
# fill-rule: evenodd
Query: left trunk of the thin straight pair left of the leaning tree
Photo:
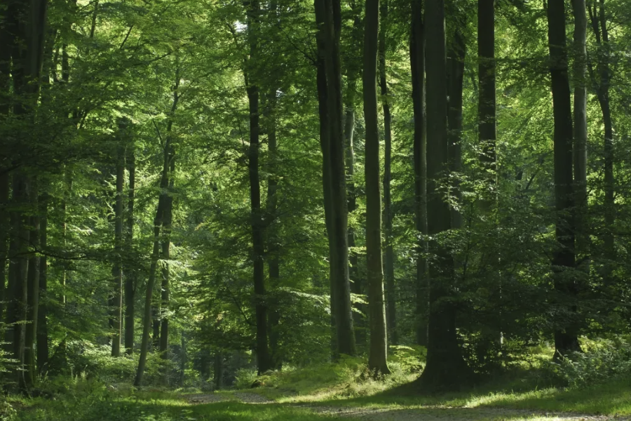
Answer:
M119 132L123 131L122 123ZM116 147L116 201L114 203L114 265L111 269L113 290L113 323L111 356L121 356L121 336L123 333L123 186L125 185L125 147L118 140Z

